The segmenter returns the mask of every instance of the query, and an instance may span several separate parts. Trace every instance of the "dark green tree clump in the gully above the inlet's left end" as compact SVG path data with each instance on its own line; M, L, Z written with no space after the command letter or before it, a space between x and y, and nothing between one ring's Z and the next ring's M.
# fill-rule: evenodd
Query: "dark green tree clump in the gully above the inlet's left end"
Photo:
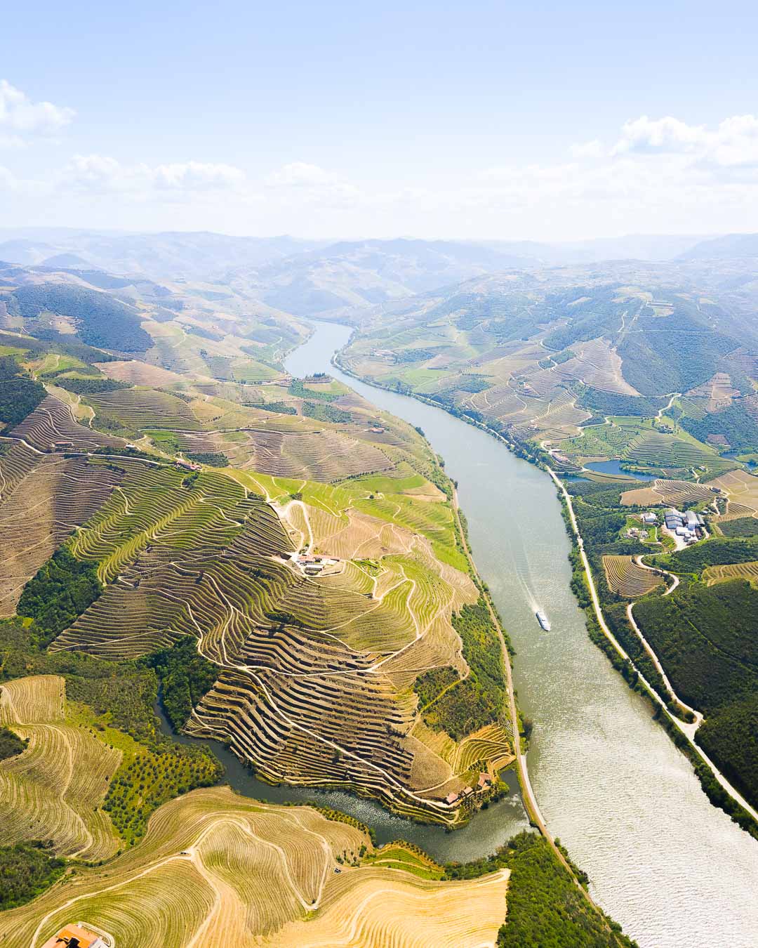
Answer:
M192 708L218 678L218 668L197 650L197 641L183 635L171 647L161 648L142 659L153 668L160 683L160 697L166 717L180 731Z

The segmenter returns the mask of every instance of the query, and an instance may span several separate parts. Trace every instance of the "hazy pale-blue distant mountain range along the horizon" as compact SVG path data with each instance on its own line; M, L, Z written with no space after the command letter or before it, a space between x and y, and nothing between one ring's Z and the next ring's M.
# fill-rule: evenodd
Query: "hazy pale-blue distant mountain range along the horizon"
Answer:
M708 239L642 234L548 244L409 238L329 242L208 232L0 229L0 260L40 272L104 270L128 277L131 283L202 283L206 293L226 287L243 300L275 310L352 321L376 305L489 274L619 262L699 266L755 255L758 235L754 234ZM738 274L743 283L748 277L744 268ZM91 277L88 282L92 283Z

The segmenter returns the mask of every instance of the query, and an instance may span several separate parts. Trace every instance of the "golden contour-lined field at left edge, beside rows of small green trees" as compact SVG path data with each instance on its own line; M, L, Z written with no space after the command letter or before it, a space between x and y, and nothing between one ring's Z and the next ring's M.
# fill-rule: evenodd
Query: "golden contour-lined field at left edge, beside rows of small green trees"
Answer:
M64 856L107 859L120 841L101 808L121 752L66 713L57 675L16 679L0 687L0 724L27 749L0 761L4 845L49 839Z

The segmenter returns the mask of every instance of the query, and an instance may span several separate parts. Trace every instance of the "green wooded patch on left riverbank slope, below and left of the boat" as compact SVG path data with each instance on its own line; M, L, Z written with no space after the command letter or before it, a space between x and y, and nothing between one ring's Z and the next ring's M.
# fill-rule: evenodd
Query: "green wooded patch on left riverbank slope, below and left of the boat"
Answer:
M504 714L505 669L497 629L483 598L479 597L473 606L463 606L453 616L453 626L463 643L468 677L443 694L442 689L451 684L449 676L424 675L414 688L422 704L427 705L422 712L425 723L460 740ZM435 689L439 696L436 700Z

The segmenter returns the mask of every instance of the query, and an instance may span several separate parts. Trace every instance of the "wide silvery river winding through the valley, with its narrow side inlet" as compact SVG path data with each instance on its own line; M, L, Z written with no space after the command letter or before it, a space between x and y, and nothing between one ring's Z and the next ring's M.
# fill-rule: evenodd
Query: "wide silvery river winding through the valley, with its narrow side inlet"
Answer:
M711 806L649 706L589 641L568 587L568 537L550 478L442 410L339 373L330 360L349 336L344 326L317 323L287 369L329 372L420 426L458 481L479 572L516 649L518 700L535 722L534 792L553 836L589 873L593 898L642 948L752 948L758 844ZM536 609L548 613L550 632L537 625ZM374 823L374 806L360 807ZM395 826L384 824L382 835L391 835ZM512 798L460 833L412 835L440 856L465 859L523 825Z

